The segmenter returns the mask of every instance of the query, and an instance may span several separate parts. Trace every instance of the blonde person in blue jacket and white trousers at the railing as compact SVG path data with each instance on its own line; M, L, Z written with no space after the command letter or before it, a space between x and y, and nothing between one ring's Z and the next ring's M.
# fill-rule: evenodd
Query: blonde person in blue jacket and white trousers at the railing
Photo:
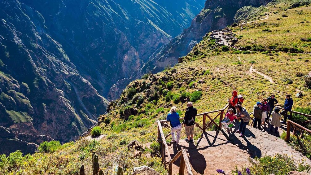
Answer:
M180 138L180 131L181 131L181 123L179 121L179 114L176 113L177 108L173 106L170 110L170 113L167 115L166 120L169 121L172 129L172 142L178 144ZM176 133L176 137L175 137Z

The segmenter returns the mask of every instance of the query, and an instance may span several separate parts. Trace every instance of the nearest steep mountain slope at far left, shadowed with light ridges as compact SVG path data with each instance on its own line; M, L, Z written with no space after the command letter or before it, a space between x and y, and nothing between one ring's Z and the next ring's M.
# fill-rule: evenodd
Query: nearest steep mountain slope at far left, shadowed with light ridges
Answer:
M0 7L0 125L45 135L41 141L76 139L96 124L108 101L79 75L38 11L15 0ZM2 143L0 154L19 146Z

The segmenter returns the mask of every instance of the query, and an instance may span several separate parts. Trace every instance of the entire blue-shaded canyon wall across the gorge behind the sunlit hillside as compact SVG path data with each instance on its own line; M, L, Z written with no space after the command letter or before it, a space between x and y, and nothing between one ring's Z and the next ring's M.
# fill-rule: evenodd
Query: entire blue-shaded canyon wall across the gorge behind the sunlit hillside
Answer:
M0 126L75 140L105 113L110 87L188 27L203 4L1 1Z

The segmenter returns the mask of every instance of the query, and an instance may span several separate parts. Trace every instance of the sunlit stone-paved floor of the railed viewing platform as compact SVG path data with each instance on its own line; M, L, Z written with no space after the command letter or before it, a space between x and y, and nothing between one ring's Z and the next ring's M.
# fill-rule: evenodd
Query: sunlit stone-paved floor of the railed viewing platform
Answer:
M245 137L240 138L235 133L237 127L234 126L233 133L230 134L226 131L207 131L195 143L188 144L185 140L180 140L179 145L171 144L171 157L182 148L187 149L193 174L216 174L216 169L230 173L235 166L250 166L248 158L273 156L276 153L293 156L297 161L306 159L306 163L311 165L307 157L292 149L284 140L278 138L279 135L247 126ZM172 174L178 173L179 161L180 158L173 164Z

